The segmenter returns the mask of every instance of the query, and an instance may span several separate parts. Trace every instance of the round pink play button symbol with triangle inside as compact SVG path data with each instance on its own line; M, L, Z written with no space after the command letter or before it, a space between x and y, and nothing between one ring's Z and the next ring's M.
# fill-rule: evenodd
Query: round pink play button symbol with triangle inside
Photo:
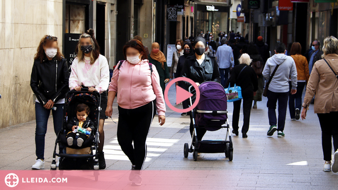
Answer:
M169 88L173 84L175 84L175 82L178 82L178 81L189 82L195 88L195 90L196 90L196 99L195 99L195 102L189 108L186 108L186 109L175 108L175 106L173 106L170 103L170 101L169 101L169 98L168 98ZM183 102L184 100L190 98L191 96L193 96L193 94L191 94L190 92L186 91L185 89L183 89L180 86L176 86L176 104L180 104L181 102ZM168 105L168 107L170 109L172 109L173 111L176 111L176 112L179 112L179 113L188 112L188 111L191 111L192 109L194 109L197 106L198 101L200 100L200 91L198 89L197 84L194 81L192 81L191 79L188 79L186 77L179 77L179 78L176 78L176 79L170 81L167 84L167 86L165 87L165 89L164 89L164 100L165 100L165 103Z

